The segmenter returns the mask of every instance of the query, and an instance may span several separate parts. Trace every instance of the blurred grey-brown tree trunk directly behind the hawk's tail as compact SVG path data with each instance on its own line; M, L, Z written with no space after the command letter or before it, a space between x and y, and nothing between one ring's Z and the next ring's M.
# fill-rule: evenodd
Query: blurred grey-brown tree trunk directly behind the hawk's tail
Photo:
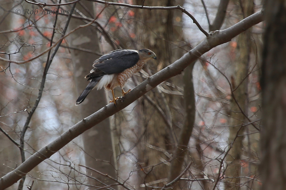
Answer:
M92 2L81 1L81 4L88 9L89 13L94 13L94 6ZM77 8L88 17L94 17L94 15L89 15L80 4L77 5ZM84 24L84 22L81 20L72 19L70 29L76 28L82 24ZM90 49L95 52L101 52L98 31L94 26L88 26L77 30L71 35L70 42L72 46ZM99 58L99 56L79 50L71 50L71 53L72 60L74 62L76 91L78 95L80 95L88 84L88 81L86 81L84 77L93 68L92 64L94 60ZM74 104L75 101L72 103ZM85 101L79 106L75 107L78 113L80 113L80 118L78 119L83 119L91 115L107 104L108 102L104 89L99 91L91 91ZM86 152L86 166L96 169L102 173L107 173L108 175L116 178L116 170L114 169L116 168L116 158L114 155L114 144L112 140L110 120L105 119L90 130L86 131L83 134L82 139L84 142L84 150ZM88 171L88 175L95 177L107 185L112 183L111 180L95 172ZM90 179L90 182L92 185L98 184L98 181L95 180Z

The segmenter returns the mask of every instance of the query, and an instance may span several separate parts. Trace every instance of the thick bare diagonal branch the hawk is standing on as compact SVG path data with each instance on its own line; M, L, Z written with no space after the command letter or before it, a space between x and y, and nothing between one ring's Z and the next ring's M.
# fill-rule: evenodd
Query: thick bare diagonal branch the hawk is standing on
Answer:
M51 157L57 151L59 151L63 146L69 143L71 140L82 134L84 131L90 129L92 126L98 124L102 120L112 116L116 112L124 109L132 102L134 102L139 97L143 96L145 93L155 88L160 83L166 81L167 79L180 74L188 65L193 64L196 59L198 59L202 54L208 52L215 46L229 42L232 38L240 34L241 32L247 30L251 26L260 23L263 20L262 11L259 11L239 23L227 28L225 30L217 30L210 33L209 38L205 38L200 44L198 44L190 52L184 54L180 59L175 61L170 66L164 68L158 73L154 74L143 81L140 85L126 94L125 97L117 100L116 107L114 104L109 104L98 110L96 113L86 117L81 120L69 130L61 134L53 142L49 143L47 146L41 148L38 152L30 156L24 163L18 166L15 170L7 173L0 179L0 190L3 190L13 183L16 183L21 179L21 174L25 174L31 171L38 164L43 162L45 159Z

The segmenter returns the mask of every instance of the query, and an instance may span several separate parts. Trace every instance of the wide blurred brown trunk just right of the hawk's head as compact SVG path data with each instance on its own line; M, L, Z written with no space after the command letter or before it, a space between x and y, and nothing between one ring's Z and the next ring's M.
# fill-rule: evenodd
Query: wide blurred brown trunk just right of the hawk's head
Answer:
M144 6L176 6L183 5L183 3L184 1L181 0L146 0L144 1ZM136 0L134 4L142 5L143 1ZM140 9L135 9L134 11L135 20L139 21L135 26L135 34L137 35L138 42L141 43L140 48L153 50L157 55L157 61L152 62L152 65L150 65L152 71L159 71L182 56L184 51L178 48L182 45L181 41L183 41L182 25L178 24L182 22L182 13L180 11L150 11ZM182 117L178 116L179 114L176 111L169 108L169 105L174 101L172 96L165 97L164 94L159 93L158 89L149 93L148 96L158 106L162 107L166 117L169 116L168 119L170 120L171 127L172 117L177 117L175 120L182 121ZM182 100L179 99L176 101L181 102ZM143 107L146 143L163 150L172 151L176 142L176 138L174 138L175 133L173 132L172 134L173 128L166 126L162 116L147 101L143 102ZM180 119L178 119L179 117ZM143 148L144 163L147 167L146 172L152 168L152 171L145 178L145 183L168 177L169 166L162 163L162 161L169 158L163 152L155 149L146 145ZM156 185L162 186L163 184L158 183Z

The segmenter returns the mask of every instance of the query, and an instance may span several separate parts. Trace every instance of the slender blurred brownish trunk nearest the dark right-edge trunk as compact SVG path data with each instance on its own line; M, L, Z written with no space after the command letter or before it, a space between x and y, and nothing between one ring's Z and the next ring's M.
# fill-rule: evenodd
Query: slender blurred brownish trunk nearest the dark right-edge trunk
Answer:
M242 16L240 20L253 14L253 1L243 1L241 3ZM230 123L229 123L229 143L232 148L226 157L227 169L226 176L231 177L226 180L226 189L239 189L241 174L241 154L243 151L243 128L242 124L245 121L245 116L242 114L246 112L247 102L247 76L249 56L251 51L251 30L247 30L240 34L237 38L237 48L235 51L235 65L234 74L231 76L231 83L233 96L230 108ZM237 102L235 101L237 100ZM239 106L240 108L239 108Z

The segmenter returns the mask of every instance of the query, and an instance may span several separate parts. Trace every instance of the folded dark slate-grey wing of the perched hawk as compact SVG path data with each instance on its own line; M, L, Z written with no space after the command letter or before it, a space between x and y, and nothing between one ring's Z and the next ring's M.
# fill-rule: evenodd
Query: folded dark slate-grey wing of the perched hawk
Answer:
M115 50L97 59L93 67L106 74L121 73L139 61L136 50Z

